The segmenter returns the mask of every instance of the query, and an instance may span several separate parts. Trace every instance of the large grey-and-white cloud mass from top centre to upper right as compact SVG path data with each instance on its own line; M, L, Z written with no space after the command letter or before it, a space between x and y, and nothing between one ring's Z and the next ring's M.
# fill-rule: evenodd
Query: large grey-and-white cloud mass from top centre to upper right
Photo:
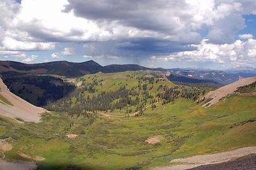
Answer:
M231 42L235 38L234 33L245 27L243 14L253 13L252 6L256 6L254 1L238 0L68 2L64 12L97 21L113 35L118 32L118 26L123 26L123 30L129 30L128 37L161 36L179 42L199 38L198 31L202 26L209 28L208 38L212 42Z

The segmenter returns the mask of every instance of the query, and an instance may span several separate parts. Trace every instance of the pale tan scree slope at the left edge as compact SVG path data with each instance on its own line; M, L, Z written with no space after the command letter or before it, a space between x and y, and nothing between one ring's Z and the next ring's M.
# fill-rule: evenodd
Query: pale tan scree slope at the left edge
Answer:
M11 93L0 78L0 94L8 99L12 105L8 105L3 101L0 102L0 115L10 118L21 118L26 122L39 122L40 114L47 110L34 106L24 99Z

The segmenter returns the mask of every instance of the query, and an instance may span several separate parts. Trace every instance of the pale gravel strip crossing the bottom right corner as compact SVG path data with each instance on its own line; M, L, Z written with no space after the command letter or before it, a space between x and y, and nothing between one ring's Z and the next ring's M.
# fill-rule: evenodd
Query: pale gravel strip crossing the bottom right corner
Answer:
M173 166L153 167L151 170L185 170L197 166L216 164L226 161L231 161L239 157L256 154L256 147L243 147L226 152L219 152L216 154L207 154L202 156L192 156L183 159L173 159L171 163Z

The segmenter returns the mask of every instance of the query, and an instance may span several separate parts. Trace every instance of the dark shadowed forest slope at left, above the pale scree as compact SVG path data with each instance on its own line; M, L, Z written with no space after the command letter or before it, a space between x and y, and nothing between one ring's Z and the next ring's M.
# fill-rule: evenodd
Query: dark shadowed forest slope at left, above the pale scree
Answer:
M74 84L60 77L49 75L4 75L9 90L36 106L45 106L50 101L61 99L75 89Z

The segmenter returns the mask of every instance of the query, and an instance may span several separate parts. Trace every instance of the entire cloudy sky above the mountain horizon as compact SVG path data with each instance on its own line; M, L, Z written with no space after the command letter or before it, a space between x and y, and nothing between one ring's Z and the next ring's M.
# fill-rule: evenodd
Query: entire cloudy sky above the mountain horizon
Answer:
M255 0L1 0L0 60L256 67Z

